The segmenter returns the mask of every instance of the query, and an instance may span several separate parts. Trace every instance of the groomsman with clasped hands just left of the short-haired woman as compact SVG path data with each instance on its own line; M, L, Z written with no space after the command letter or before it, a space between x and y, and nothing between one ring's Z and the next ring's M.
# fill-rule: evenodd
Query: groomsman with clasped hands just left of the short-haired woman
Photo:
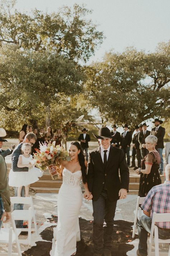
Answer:
M146 149L145 139L148 135L150 135L151 132L147 130L147 127L148 126L146 125L146 123L143 123L142 124L143 131L141 131L140 134L138 135L138 142L141 145L142 158L149 153L149 151Z

